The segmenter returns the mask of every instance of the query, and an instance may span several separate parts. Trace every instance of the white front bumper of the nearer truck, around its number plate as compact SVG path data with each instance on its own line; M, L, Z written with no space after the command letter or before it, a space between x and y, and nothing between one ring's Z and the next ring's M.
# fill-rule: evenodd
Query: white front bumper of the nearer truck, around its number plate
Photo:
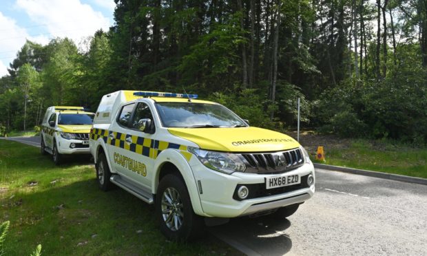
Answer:
M308 186L295 186L291 189L282 189L271 193L258 191L257 196L246 200L236 200L236 187L239 184L253 184L249 187L265 187L265 178L277 175L299 174L301 177L315 175L311 162L303 164L297 169L280 174L233 173L227 175L218 171L207 169L202 164L193 162L191 169L194 171L196 182L200 180L199 188L202 210L208 217L238 217L278 209L291 204L299 204L309 200L315 193L315 184ZM306 182L302 180L302 182ZM287 188L286 186L283 188ZM259 189L258 189L259 190ZM266 189L264 189L266 190Z

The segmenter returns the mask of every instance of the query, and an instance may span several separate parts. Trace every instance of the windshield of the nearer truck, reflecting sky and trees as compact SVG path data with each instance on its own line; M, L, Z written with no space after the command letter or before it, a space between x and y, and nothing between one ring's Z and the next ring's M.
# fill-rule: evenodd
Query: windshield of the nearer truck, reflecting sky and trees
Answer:
M222 105L207 103L156 103L164 127L247 127Z

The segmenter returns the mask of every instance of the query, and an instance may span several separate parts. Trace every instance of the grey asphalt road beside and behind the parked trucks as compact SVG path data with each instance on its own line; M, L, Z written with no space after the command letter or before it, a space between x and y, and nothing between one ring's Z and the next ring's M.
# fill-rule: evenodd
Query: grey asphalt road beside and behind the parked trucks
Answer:
M427 186L316 169L314 197L291 217L209 231L247 255L427 255Z

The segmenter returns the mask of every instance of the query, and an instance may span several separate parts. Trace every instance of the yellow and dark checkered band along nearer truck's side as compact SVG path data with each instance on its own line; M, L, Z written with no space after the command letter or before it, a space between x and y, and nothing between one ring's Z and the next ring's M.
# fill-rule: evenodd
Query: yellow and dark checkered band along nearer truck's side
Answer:
M152 140L151 138L144 138L131 134L122 134L105 129L93 129L90 138L92 140L102 138L107 145L120 147L121 149L147 156L148 158L156 159L158 154L165 149L177 149L187 161L189 161L192 156L192 154L187 151L187 146L184 145L162 140Z

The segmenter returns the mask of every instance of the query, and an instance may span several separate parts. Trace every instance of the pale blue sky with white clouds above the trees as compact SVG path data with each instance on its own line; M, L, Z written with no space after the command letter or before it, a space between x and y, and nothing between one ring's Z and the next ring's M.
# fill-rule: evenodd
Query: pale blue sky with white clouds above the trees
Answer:
M76 45L114 24L114 0L0 0L0 77L25 40L46 45L65 37Z

